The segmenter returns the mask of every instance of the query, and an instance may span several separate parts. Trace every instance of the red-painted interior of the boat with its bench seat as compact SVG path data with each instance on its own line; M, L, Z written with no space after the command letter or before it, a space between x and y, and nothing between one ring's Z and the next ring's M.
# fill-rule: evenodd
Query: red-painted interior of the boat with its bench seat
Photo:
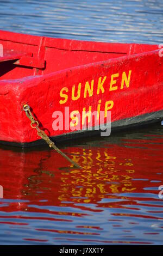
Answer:
M76 41L0 31L0 80L44 75L156 49L158 45Z

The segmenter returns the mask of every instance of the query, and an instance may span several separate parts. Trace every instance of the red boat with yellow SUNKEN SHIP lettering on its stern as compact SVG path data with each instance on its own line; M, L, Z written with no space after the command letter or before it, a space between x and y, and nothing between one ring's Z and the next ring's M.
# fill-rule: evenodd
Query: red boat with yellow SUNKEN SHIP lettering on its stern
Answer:
M158 45L0 31L0 56L1 143L21 147L42 143L22 111L27 104L39 127L55 141L97 133L95 120L92 130L77 127L89 123L88 111L97 112L97 119L103 111L103 124L111 111L112 129L163 117L163 57ZM63 122L68 117L68 126L58 124L54 129L56 111L63 114ZM83 113L84 118L77 118Z

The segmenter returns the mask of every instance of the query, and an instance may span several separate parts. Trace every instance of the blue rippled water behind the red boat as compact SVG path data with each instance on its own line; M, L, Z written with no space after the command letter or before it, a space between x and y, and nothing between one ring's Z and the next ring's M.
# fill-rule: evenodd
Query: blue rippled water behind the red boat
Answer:
M67 39L162 43L162 0L0 1L0 28Z

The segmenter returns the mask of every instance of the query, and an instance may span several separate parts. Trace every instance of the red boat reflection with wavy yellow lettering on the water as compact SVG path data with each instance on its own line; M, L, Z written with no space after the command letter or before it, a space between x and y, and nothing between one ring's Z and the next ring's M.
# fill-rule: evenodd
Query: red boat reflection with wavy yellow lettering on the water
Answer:
M162 173L163 138L155 139L153 149L151 145L149 147L148 140L141 144L139 142L139 148L133 148L135 141L134 144L131 144L131 140L128 142L125 145L131 148L103 143L102 147L92 145L65 149L83 170L72 168L62 156L52 150L20 153L0 149L0 184L4 188L4 198L29 200L30 204L40 206L73 206L94 212L102 211L103 207L139 210L137 206L141 205L141 201L150 200L146 197L147 192L158 194L157 190L148 191L144 188L163 184L162 175L156 175ZM159 182L152 183L151 180ZM127 196L123 196L124 193ZM134 197L129 197L130 193L143 193L144 197L141 195L139 198L138 195L135 200ZM111 199L121 200L112 202ZM41 200L43 201L40 202ZM139 204L137 200L140 201ZM153 200L159 198L156 196ZM23 210L72 215L71 212L31 207L28 206L29 202L10 203L1 208L1 211ZM85 205L76 206L74 203ZM101 209L90 209L89 204L96 204ZM74 212L73 216L84 215Z

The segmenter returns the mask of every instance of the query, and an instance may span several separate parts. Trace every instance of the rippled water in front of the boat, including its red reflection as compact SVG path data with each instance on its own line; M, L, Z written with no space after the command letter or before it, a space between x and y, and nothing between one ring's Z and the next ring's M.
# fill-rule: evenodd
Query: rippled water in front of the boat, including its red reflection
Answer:
M66 145L0 149L0 243L163 244L163 135L158 126Z

